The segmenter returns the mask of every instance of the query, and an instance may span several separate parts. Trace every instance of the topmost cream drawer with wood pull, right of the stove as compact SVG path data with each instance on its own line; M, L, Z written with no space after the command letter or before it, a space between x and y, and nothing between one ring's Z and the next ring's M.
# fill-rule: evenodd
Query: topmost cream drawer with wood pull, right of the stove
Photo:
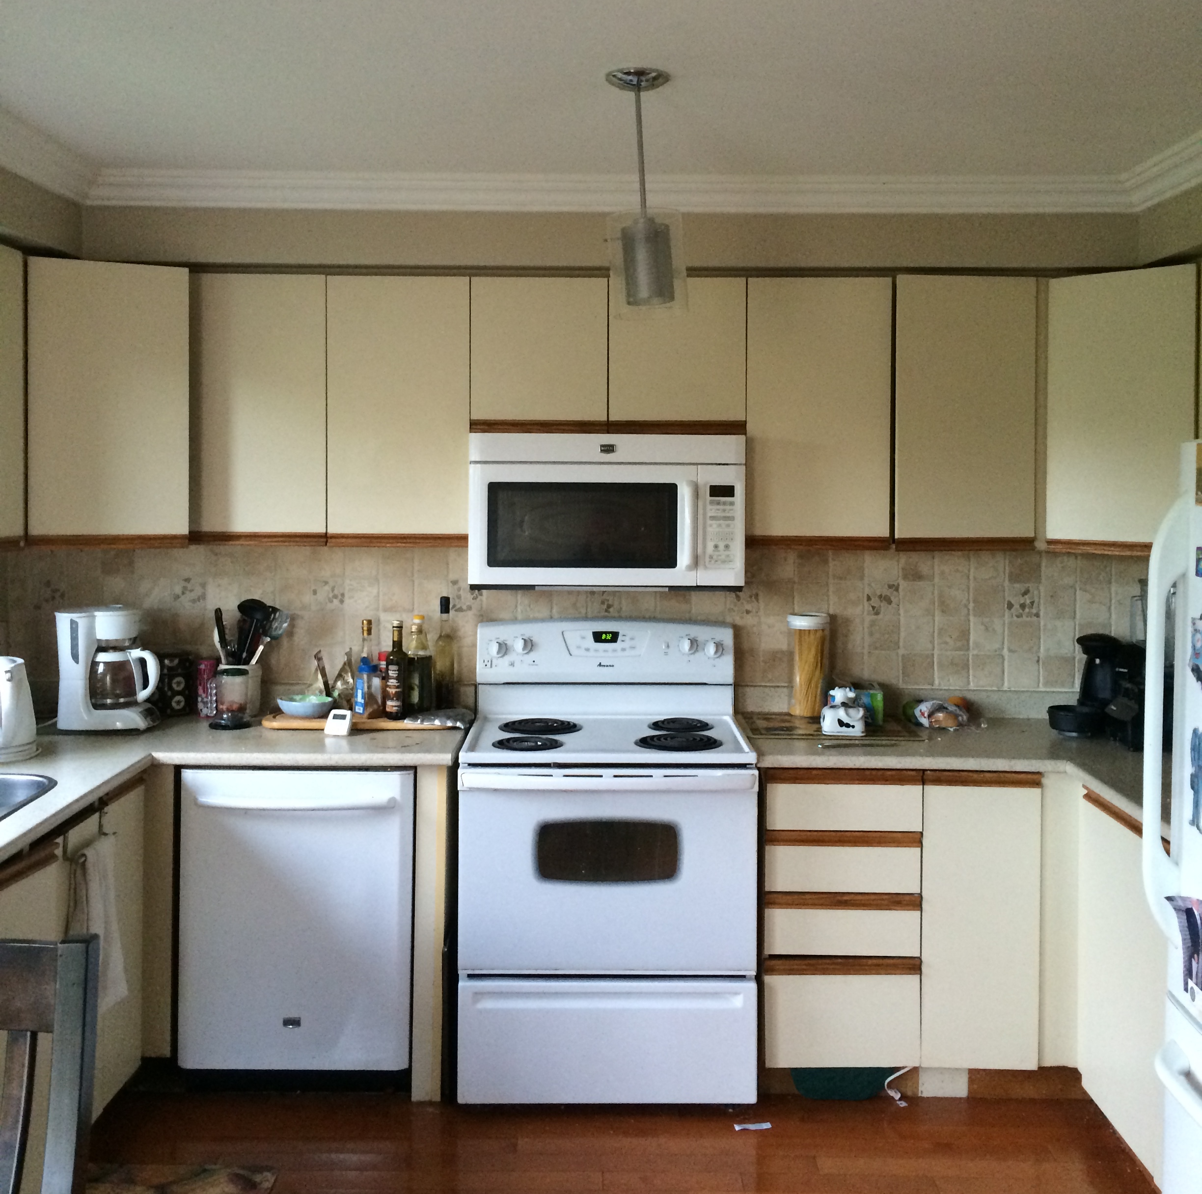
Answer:
M773 768L766 778L769 830L922 830L918 771L867 771L849 783L845 771Z

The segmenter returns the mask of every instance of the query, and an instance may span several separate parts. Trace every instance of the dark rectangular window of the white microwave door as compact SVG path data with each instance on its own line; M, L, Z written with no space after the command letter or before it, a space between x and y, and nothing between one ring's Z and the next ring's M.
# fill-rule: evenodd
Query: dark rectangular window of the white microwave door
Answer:
M676 568L672 482L490 481L489 568Z

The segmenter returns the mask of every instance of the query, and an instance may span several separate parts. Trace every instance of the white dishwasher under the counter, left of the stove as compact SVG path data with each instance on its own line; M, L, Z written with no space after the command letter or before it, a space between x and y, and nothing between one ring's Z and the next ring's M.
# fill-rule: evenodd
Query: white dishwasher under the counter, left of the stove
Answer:
M412 892L412 771L183 771L179 1065L406 1069Z

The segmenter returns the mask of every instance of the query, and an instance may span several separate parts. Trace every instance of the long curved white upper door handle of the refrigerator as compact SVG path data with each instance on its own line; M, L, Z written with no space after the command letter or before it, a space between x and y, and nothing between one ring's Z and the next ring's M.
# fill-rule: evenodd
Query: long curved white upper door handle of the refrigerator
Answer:
M1148 562L1148 637L1146 653L1152 660L1165 658L1165 598L1173 583L1184 576L1180 562L1190 545L1190 519L1194 494L1184 493L1170 507L1156 531ZM1178 595L1184 601L1184 594ZM1160 845L1161 733L1165 720L1165 693L1160 684L1148 684L1144 693L1143 720L1143 890L1152 915L1170 941L1179 941L1177 915L1165 897L1176 896L1180 887L1180 868L1165 855Z

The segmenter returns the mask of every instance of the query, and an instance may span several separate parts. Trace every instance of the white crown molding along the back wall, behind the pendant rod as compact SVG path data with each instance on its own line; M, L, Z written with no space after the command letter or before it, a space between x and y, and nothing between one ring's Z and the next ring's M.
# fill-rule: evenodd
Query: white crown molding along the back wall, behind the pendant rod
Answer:
M684 212L1127 212L1114 178L653 177L656 204ZM613 176L103 170L88 203L130 207L392 212L612 212L637 184Z

